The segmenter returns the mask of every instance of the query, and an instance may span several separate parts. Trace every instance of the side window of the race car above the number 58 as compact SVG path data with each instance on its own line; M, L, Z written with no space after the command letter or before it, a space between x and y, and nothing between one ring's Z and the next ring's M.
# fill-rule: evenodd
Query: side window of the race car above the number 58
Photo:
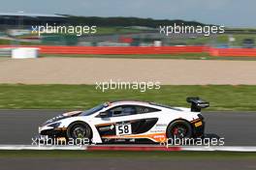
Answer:
M128 115L134 115L136 113L136 108L133 105L121 105L114 107L109 110L111 117L117 117L117 116L128 116Z

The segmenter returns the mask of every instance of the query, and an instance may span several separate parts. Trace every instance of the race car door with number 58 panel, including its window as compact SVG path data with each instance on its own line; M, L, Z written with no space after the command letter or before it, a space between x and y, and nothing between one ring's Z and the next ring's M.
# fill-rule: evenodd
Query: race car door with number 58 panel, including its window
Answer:
M108 116L98 118L100 121L96 125L96 128L102 138L118 138L144 133L152 128L158 120L157 116L142 112L142 109L145 108L140 105L119 105L112 107L107 110ZM146 109L148 110L148 108Z

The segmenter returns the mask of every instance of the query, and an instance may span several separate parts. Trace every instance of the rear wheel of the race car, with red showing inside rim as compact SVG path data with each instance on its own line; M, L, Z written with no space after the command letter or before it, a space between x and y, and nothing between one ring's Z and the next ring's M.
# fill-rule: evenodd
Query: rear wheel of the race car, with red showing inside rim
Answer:
M188 122L177 120L168 126L166 135L168 138L190 138L192 136L192 128Z

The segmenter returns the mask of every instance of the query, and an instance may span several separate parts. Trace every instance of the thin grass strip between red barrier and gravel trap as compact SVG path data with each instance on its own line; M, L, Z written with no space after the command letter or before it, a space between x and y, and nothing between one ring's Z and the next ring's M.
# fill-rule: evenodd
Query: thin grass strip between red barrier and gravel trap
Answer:
M255 61L256 57L213 57L206 52L183 54L133 54L133 55L93 55L93 54L41 54L40 57L84 57L84 58L127 58L127 59L182 59L182 60L242 60Z

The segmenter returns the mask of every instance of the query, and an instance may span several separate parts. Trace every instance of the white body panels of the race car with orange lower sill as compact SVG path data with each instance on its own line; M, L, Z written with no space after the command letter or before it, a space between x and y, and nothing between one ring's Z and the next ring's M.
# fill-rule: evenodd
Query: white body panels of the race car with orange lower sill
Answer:
M121 106L121 105L145 106L145 107L155 108L161 111L143 113L143 114L134 114L134 115L128 115L128 116L108 117L108 118L102 118L99 116L100 112L104 112L113 107ZM68 115L76 114L76 112L69 112L65 114L63 115L68 116ZM92 130L92 134L93 134L92 142L103 143L103 140L102 140L103 138L100 136L99 131L96 128L98 125L120 123L120 122L127 122L127 121L147 119L147 118L157 118L158 119L157 123L144 133L129 134L129 135L115 135L112 137L148 138L154 142L161 142L162 140L165 140L167 127L171 122L182 119L190 123L199 119L198 114L200 114L200 112L191 112L190 108L183 108L183 107L167 108L164 106L151 104L149 102L143 102L143 101L115 101L115 102L108 103L106 107L102 108L101 110L91 115L68 117L68 118L56 121L54 123L58 123L58 122L61 123L58 128L68 128L74 122L77 122L77 121L84 122L87 125L89 125L89 127ZM50 124L54 124L54 123L50 123ZM39 133L41 133L42 130L50 129L51 128L49 127L50 124L40 127ZM113 126L112 128L116 128L116 126Z

